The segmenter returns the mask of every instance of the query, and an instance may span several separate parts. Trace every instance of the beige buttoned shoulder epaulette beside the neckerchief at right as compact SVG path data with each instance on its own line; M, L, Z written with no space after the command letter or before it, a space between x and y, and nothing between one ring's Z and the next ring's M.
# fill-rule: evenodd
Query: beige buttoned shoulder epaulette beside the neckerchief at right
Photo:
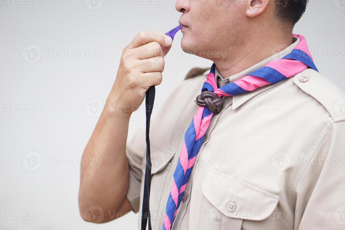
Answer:
M345 92L321 73L306 69L293 79L305 93L317 100L335 122L345 120Z

